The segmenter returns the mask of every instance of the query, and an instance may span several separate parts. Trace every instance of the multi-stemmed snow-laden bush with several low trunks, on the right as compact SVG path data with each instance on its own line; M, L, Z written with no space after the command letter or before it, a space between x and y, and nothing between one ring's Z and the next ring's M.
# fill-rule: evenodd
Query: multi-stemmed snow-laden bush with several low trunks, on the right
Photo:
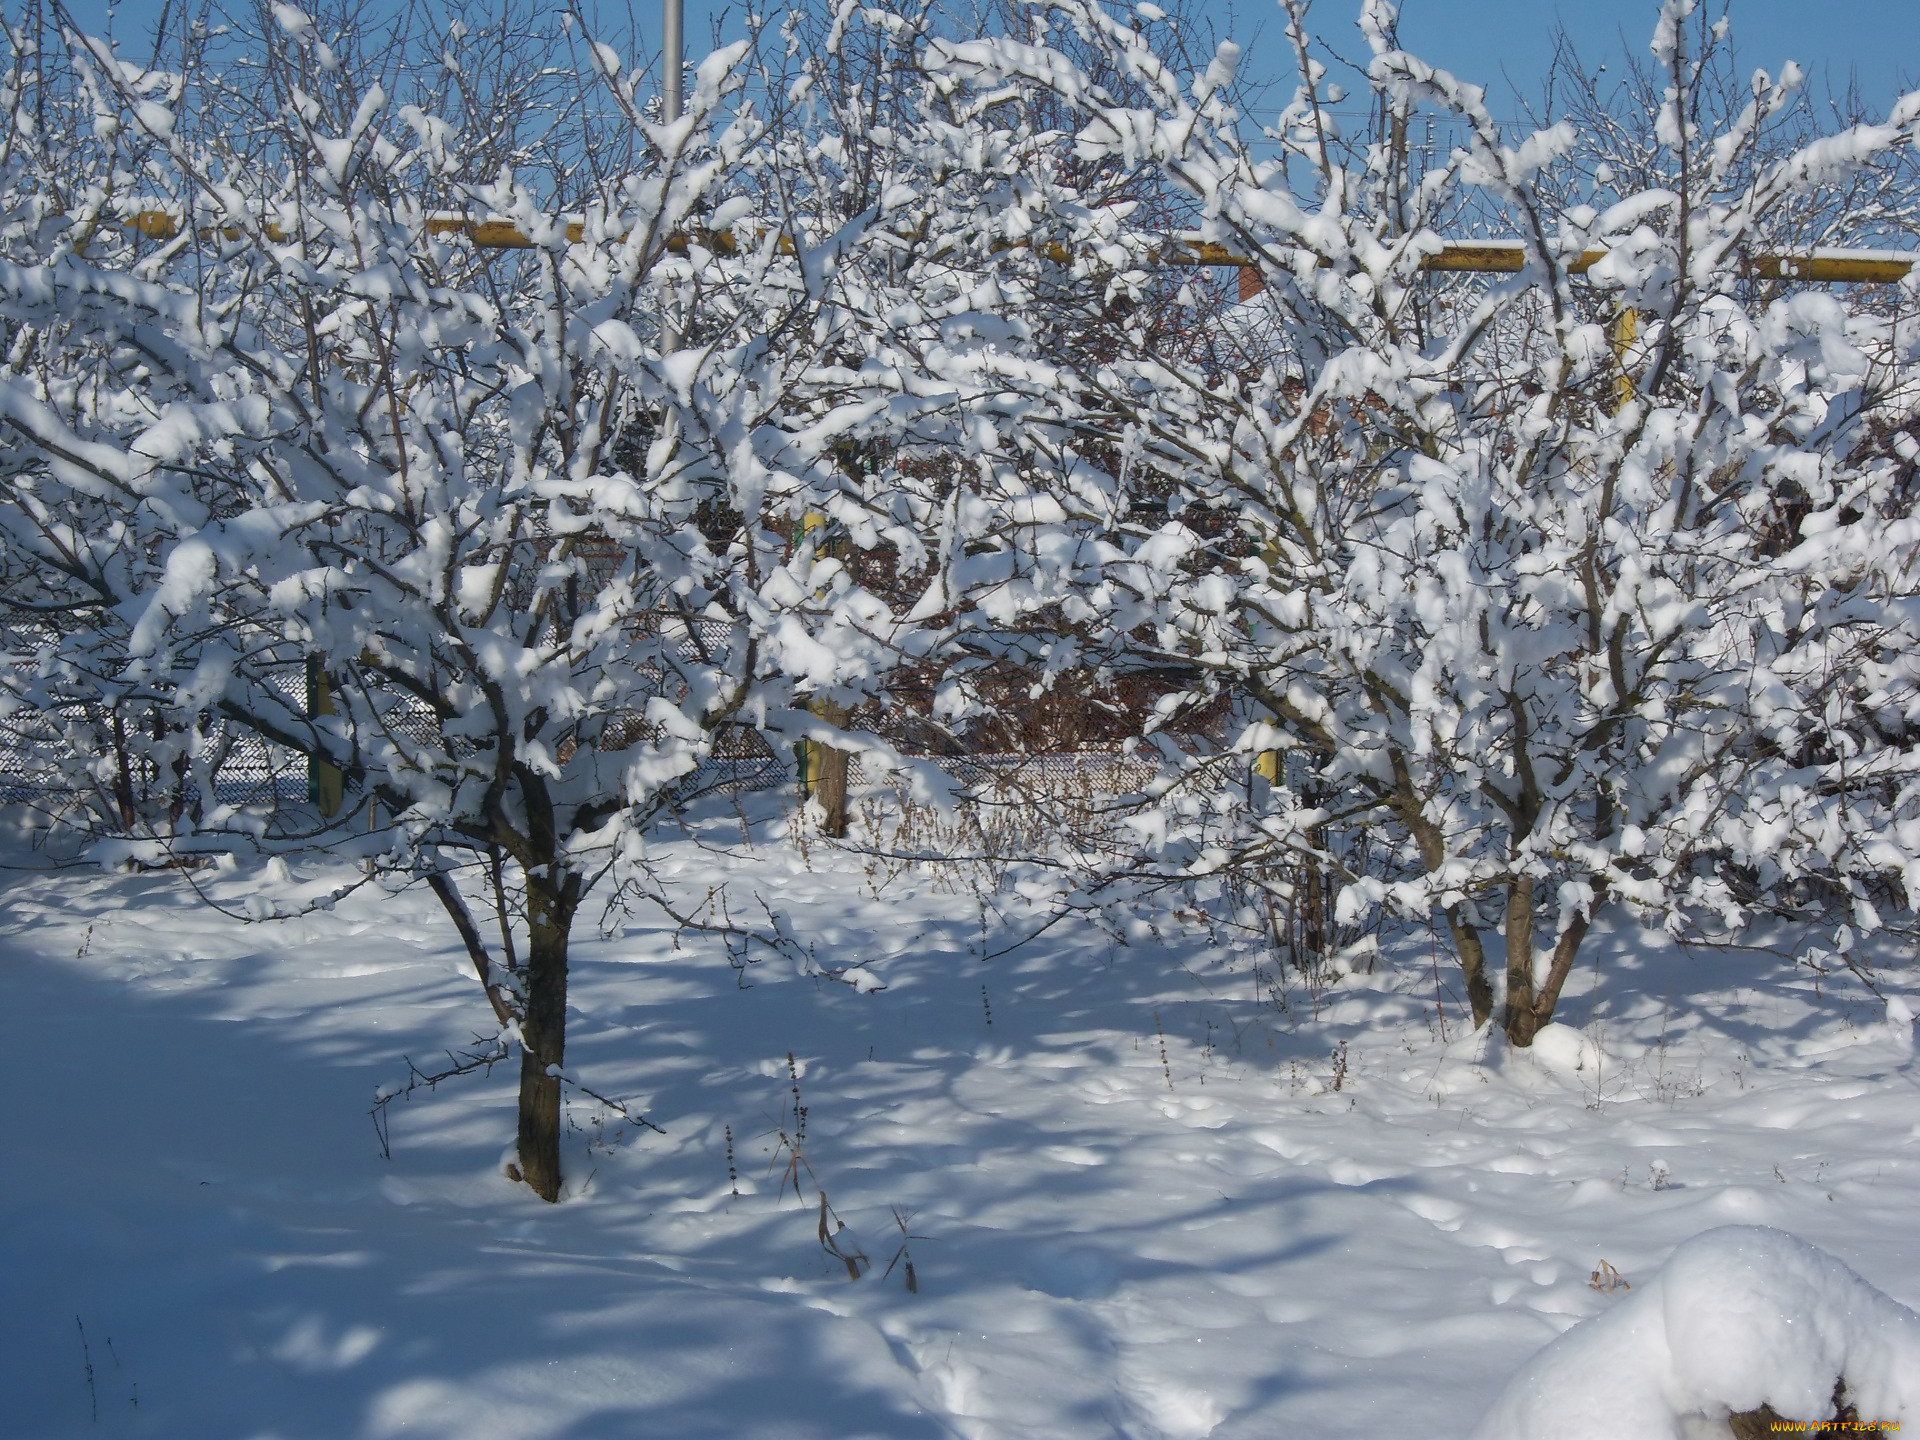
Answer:
M1784 146L1797 71L1716 113L1726 31L1668 0L1628 186L1620 117L1507 134L1400 48L1384 0L1361 13L1380 123L1344 136L1356 100L1286 12L1300 81L1263 140L1229 104L1233 46L1183 73L1089 0L1035 6L1029 40L933 48L956 92L1069 108L1023 204L1112 286L1146 284L1164 240L1085 204L1069 159L1179 186L1196 238L1265 284L1229 317L1238 363L1121 317L1044 374L1048 499L972 538L983 628L1056 620L1043 668L1185 678L1148 726L1137 845L1094 885L1227 876L1296 902L1290 876L1325 874L1348 933L1444 920L1476 1023L1503 943L1519 1044L1603 902L1674 929L1912 906L1914 280L1889 303L1759 257L1885 234L1920 96ZM1427 119L1457 144L1423 165ZM1432 273L1476 234L1517 238L1509 271ZM1219 743L1169 739L1219 705Z

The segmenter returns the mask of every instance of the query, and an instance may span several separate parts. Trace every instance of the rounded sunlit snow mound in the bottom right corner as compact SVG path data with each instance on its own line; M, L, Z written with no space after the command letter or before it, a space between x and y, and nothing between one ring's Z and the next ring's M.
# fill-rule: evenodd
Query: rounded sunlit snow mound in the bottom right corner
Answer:
M1786 1231L1695 1235L1507 1382L1475 1440L1688 1440L1728 1413L1920 1425L1920 1315ZM1724 1430L1720 1430L1724 1432Z

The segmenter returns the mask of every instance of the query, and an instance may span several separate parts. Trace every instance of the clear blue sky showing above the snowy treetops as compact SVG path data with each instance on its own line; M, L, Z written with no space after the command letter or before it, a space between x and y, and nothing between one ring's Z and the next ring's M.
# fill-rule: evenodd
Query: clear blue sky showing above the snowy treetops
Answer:
M1718 0L1709 0L1716 4ZM693 48L710 35L710 17L722 6L685 0L687 42ZM780 10L778 0L758 0ZM106 15L102 0L69 0L84 23ZM0 8L4 0L0 0ZM607 6L624 10L624 4ZM743 6L735 4L737 17ZM1171 6L1169 6L1171 8ZM1284 71L1284 36L1279 8L1258 0L1202 6L1223 33L1250 46L1248 65L1260 73ZM1657 6L1653 0L1590 0L1590 4L1538 4L1534 0L1405 0L1402 40L1425 60L1452 69L1461 79L1488 86L1494 111L1511 115L1513 86L1532 94L1551 54L1549 33L1563 21L1594 65L1619 67L1632 50L1645 54ZM129 0L117 6L115 29L136 33L159 13L157 0ZM1359 54L1354 29L1357 0L1319 0L1315 29L1346 54ZM649 40L657 38L657 0L636 0L634 15ZM1884 108L1901 81L1920 84L1920 0L1734 0L1734 40L1743 67L1763 65L1778 73L1782 61L1797 60L1803 69L1836 83L1857 77L1862 94Z

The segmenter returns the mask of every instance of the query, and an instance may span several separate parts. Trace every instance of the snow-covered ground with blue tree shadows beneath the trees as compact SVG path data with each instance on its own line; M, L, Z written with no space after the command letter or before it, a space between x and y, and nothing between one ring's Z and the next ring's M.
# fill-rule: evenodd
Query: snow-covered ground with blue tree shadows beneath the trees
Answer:
M735 977L655 916L588 927L570 1068L666 1135L572 1104L572 1194L543 1206L501 1173L507 1068L396 1104L380 1156L374 1087L486 1018L430 895L246 925L173 874L13 852L0 1430L1463 1436L1638 1294L1607 1277L1644 1290L1718 1225L1920 1302L1908 1010L1845 970L1615 927L1523 1056L1436 1008L1425 945L1281 1008L1192 929L983 960L1006 931L952 879L770 837L660 856L885 989ZM234 904L340 876L202 883ZM1920 1008L1903 964L1876 983ZM789 1052L858 1283L814 1179L781 1194ZM881 1275L897 1217L918 1292L904 1258Z

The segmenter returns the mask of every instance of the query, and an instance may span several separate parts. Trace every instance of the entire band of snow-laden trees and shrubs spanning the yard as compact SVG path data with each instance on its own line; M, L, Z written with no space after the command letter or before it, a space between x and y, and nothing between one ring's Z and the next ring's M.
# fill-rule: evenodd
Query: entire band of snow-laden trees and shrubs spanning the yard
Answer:
M1379 132L1288 0L1260 142L1231 44L1188 69L1092 0L797 17L676 119L570 13L367 52L271 13L150 65L8 31L0 691L42 764L156 780L108 820L175 852L426 879L541 1194L588 893L647 885L716 735L933 776L847 720L906 672L948 737L1008 674L1156 697L1062 902L1438 918L1476 1023L1503 943L1519 1044L1603 902L1818 902L1847 945L1920 893L1912 280L1751 263L1895 227L1920 98L1784 144L1797 75L1699 104L1724 31L1668 0L1617 171L1619 117L1509 134L1384 0ZM1463 140L1417 163L1428 115ZM1206 311L1175 221L1260 296L1162 324ZM1519 269L1428 269L1475 234ZM223 803L234 730L323 804Z

